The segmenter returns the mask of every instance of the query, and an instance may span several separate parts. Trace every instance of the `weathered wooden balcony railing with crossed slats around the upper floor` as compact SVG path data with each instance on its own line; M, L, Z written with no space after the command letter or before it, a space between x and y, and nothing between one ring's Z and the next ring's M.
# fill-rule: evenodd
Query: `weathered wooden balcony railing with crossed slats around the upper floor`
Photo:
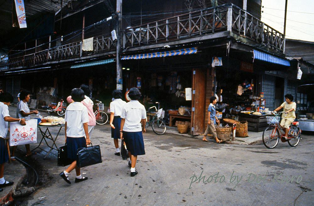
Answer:
M122 44L123 48L135 48L221 31L241 35L266 49L284 52L285 39L283 34L233 4L206 8L148 24L127 27L123 31ZM95 37L93 43L94 50L91 52L82 51L82 42L73 42L30 55L11 55L8 60L0 61L0 70L116 50L116 42L112 41L108 34Z

